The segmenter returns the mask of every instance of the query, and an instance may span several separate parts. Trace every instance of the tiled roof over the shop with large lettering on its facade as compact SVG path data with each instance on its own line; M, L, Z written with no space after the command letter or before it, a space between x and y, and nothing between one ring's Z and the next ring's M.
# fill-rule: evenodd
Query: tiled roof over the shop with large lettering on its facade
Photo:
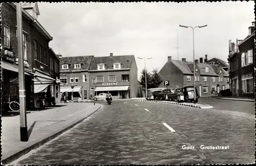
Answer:
M121 63L121 68L131 68L135 61L134 55L104 56L94 57L90 65L90 70L97 70L98 64L105 64L105 69L113 69L113 63Z

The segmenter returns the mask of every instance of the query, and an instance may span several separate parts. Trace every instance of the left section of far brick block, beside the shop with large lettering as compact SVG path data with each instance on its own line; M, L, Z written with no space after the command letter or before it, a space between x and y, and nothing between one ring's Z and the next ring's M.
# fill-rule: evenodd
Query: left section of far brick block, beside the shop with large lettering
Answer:
M60 59L60 81L67 85L61 85L60 91L67 91L68 100L90 99L90 84L88 70L93 56L62 57ZM71 89L71 85L75 85ZM73 91L73 96L72 96Z

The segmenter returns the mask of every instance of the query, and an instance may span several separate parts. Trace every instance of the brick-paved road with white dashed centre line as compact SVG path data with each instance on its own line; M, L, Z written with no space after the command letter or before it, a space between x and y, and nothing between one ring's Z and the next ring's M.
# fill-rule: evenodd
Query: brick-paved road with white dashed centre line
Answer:
M254 162L254 120L165 103L101 103L88 120L11 164ZM226 149L202 149L210 146Z

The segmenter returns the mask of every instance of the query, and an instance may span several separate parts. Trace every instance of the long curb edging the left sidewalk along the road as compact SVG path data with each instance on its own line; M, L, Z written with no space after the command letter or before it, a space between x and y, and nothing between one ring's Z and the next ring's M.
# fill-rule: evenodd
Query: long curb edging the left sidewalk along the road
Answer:
M19 157L22 157L23 155L29 153L31 150L34 150L38 147L40 147L41 145L44 145L46 144L48 141L50 141L51 139L54 139L56 138L57 136L59 136L60 134L62 134L63 132L65 131L68 131L69 129L73 128L74 126L76 126L77 124L81 123L83 120L85 120L86 118L88 118L89 116L91 116L93 113L95 113L96 111L98 111L100 108L102 107L102 105L100 105L99 108L97 108L95 111L93 111L91 114L89 114L88 116L86 117L82 117L78 120L75 120L72 122L72 124L69 124L69 125L66 125L66 127L58 132L54 132L52 134L50 134L50 136L47 136L46 138L38 141L37 143L31 145L30 147L28 148L25 148L23 150L20 150L19 152L5 158L5 159L2 159L2 164L8 164L16 159L18 159Z

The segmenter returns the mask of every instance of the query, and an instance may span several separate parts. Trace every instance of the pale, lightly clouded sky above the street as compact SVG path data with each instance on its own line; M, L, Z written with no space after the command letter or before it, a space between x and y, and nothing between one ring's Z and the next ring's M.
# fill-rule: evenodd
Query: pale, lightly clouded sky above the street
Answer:
M195 29L195 59L207 54L227 62L229 40L244 39L255 18L253 1L38 3L38 8L38 21L53 37L49 46L56 54L134 55L138 78L144 60L137 57L152 58L146 60L150 71L160 70L168 56L193 61L193 30L179 25L207 25Z

